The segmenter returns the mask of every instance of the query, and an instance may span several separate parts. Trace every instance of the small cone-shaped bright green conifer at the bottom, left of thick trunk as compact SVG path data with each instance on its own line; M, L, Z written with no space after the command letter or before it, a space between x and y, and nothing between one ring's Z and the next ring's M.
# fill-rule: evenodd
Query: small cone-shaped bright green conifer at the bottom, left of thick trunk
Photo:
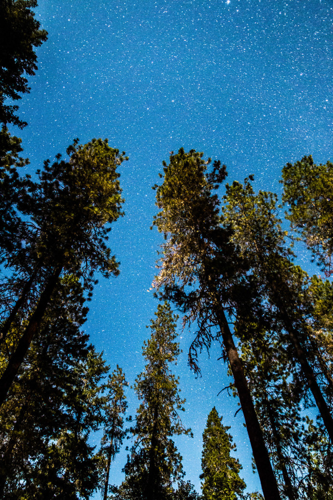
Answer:
M246 487L239 476L242 465L230 455L236 449L228 434L230 427L222 424L215 406L208 415L203 433L202 483L203 500L236 500Z

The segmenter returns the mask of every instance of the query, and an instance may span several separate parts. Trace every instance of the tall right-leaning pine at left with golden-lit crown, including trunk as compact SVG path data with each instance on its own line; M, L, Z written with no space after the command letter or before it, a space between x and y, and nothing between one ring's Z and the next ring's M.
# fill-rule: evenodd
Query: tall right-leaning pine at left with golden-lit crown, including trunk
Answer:
M1 403L41 324L61 273L77 276L90 293L96 271L106 277L119 272L105 241L109 224L121 215L123 200L116 168L124 157L108 145L107 139L93 139L85 145L75 140L67 153L67 162L58 157L51 166L48 161L44 163L31 194L32 231L24 247L31 275L12 304L10 321L2 325L2 342L11 324L24 320L24 328L2 372ZM14 271L21 268L21 262L15 263Z

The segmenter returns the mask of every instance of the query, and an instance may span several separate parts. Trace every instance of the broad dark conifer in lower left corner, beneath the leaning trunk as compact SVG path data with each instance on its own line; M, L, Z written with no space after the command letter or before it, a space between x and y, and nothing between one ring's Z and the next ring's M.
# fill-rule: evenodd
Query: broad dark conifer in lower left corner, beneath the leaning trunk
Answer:
M87 310L79 281L63 276L0 410L1 498L76 500L97 487L89 436L102 423L108 368L80 331Z

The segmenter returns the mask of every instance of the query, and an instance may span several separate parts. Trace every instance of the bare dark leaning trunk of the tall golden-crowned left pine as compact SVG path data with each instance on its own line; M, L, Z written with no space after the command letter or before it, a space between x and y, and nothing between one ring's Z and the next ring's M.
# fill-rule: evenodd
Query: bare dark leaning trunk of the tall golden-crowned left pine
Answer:
M49 303L52 292L58 282L61 270L62 266L59 265L49 277L44 291L40 295L37 307L33 312L28 325L19 339L18 345L11 355L7 367L0 378L0 406L7 398L8 390L17 375L18 369L30 346L31 340L43 319L47 304Z

